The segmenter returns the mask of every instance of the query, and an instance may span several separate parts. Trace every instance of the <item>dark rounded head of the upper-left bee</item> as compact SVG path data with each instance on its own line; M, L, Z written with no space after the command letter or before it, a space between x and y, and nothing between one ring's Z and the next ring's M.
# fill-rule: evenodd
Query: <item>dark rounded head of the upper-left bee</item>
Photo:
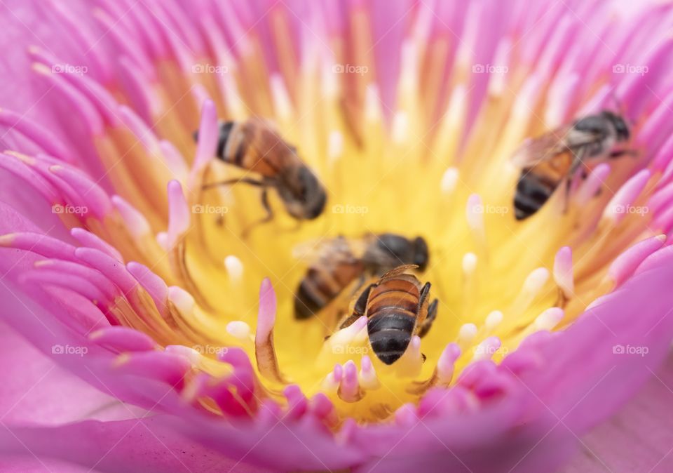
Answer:
M292 168L285 176L285 185L278 187L285 208L297 220L313 220L322 213L327 202L325 189L306 166Z

